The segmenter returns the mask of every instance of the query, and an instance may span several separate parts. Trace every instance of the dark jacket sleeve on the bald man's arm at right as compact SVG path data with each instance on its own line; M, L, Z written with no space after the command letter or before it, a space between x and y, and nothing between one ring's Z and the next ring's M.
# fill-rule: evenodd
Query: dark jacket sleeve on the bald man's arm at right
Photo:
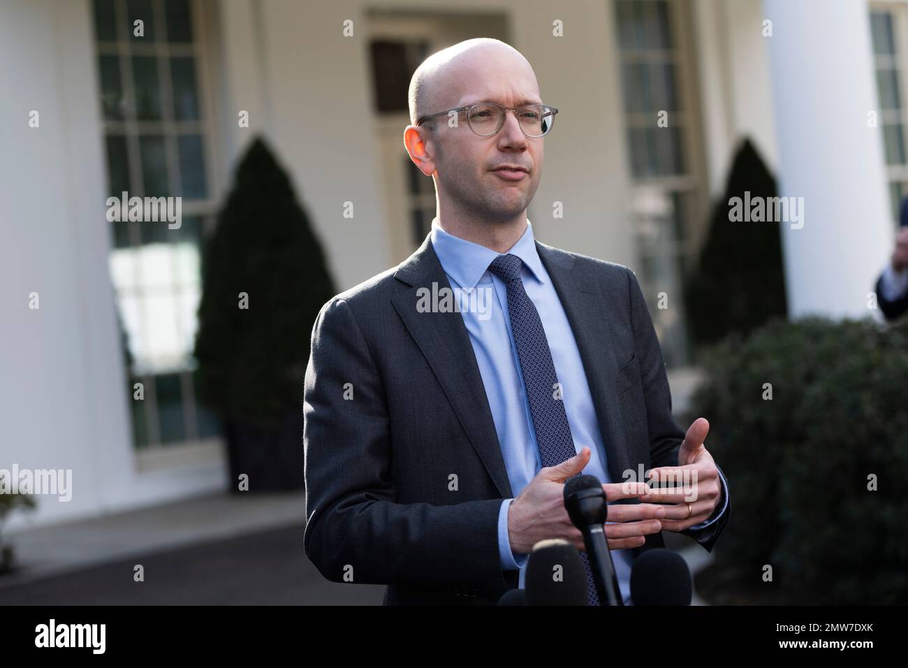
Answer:
M646 400L650 457L653 468L677 466L678 450L684 441L685 430L677 423L672 414L672 394L668 387L666 364L656 337L656 328L653 326L653 319L646 308L646 300L643 291L640 290L640 284L637 283L637 276L630 269L627 269L627 280L630 289L631 324L634 328L635 348ZM716 468L719 468L718 464L716 464ZM717 518L716 521L699 529L688 528L678 532L694 538L697 543L703 545L706 552L712 552L713 545L725 530L725 525L731 517L731 494L727 492L725 484L722 484L725 472L721 469L719 471L722 491L718 503L716 503L716 510L708 518L709 520ZM723 508L725 508L724 512Z

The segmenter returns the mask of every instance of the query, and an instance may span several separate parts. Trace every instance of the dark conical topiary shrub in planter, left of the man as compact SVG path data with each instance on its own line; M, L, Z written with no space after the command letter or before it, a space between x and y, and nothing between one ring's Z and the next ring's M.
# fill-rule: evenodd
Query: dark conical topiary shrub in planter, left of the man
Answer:
M262 139L243 155L202 263L199 396L222 416L231 489L300 488L312 324L335 294L290 178Z

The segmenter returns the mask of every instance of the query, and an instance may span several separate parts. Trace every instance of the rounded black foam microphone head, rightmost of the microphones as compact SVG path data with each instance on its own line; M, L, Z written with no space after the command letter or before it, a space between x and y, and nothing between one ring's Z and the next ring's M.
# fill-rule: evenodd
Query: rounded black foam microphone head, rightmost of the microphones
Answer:
M635 605L690 605L694 594L690 569L671 550L646 550L630 572L630 597Z

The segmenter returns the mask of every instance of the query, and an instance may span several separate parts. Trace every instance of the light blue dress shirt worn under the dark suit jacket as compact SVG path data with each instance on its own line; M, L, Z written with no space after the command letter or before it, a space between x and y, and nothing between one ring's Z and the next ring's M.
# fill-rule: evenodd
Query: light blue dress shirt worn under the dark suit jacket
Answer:
M498 253L445 232L439 227L438 218L432 220L431 242L441 267L448 276L450 287L460 295L460 314L467 326L469 340L479 364L479 374L482 376L486 396L489 398L489 408L495 422L501 454L508 470L511 491L520 494L538 473L542 462L523 374L520 373L517 349L511 334L508 290L498 276L488 271L489 264ZM606 448L599 432L596 409L587 383L587 374L580 359L580 351L577 349L574 333L555 286L539 259L533 228L529 221L527 230L508 253L523 260L520 277L529 298L536 306L546 332L577 452L584 445L588 445L592 451L583 473L595 475L602 483L624 482L612 481L608 474ZM475 292L469 292L474 288ZM457 295L455 299L458 299ZM722 511L714 513L706 522L695 524L692 529L715 523L722 513L725 513L728 494L724 477L722 485L725 491L725 505ZM511 552L508 539L508 507L512 501L513 499L505 499L498 513L498 552L502 570L519 569L519 586L522 588L528 554L515 555ZM705 532L697 538L706 540L709 534L710 532ZM615 563L622 598L625 603L632 604L630 570L634 560L633 553L629 549L613 550L612 560Z

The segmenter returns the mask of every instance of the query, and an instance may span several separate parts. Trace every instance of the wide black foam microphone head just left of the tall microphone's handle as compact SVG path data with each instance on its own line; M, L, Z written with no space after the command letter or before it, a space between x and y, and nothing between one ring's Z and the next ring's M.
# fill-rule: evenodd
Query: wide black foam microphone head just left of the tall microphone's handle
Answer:
M529 605L587 604L587 569L574 546L560 538L533 545L526 584Z

